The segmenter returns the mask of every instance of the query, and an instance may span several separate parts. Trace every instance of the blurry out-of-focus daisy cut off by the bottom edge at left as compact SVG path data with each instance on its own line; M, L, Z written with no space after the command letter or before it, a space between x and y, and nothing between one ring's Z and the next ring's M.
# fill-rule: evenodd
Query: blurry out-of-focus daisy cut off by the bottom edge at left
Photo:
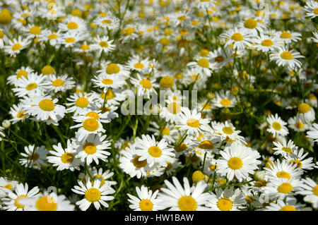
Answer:
M49 193L48 190L34 197L20 198L19 202L28 207L30 211L73 211L75 208L65 195Z

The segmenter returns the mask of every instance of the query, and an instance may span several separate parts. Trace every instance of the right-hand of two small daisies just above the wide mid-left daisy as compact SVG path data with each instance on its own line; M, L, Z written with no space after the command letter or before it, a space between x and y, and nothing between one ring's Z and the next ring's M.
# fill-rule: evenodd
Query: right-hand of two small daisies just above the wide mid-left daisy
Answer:
M54 93L57 92L66 92L66 90L70 90L75 87L75 81L73 81L67 74L65 75L49 75L47 78L46 89L51 90Z

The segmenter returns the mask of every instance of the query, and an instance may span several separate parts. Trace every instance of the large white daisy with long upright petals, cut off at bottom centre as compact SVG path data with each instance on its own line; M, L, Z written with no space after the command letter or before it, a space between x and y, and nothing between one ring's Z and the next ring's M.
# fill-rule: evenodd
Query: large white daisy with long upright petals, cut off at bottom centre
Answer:
M173 184L165 180L167 188L160 188L158 193L159 206L163 209L169 208L169 211L204 211L206 202L211 199L209 193L204 193L208 186L201 181L190 188L189 181L183 178L184 188L182 188L178 179L172 177Z

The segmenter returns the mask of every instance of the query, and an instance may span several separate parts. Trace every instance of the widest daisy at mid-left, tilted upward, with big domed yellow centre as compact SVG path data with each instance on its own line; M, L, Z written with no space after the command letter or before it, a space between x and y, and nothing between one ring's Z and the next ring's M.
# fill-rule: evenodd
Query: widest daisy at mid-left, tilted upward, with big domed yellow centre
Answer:
M32 102L23 100L23 104L25 103L25 112L31 116L36 116L37 120L52 119L53 121L59 121L66 114L66 109L57 104L58 101L58 99L52 99L51 96L47 95L34 97Z

